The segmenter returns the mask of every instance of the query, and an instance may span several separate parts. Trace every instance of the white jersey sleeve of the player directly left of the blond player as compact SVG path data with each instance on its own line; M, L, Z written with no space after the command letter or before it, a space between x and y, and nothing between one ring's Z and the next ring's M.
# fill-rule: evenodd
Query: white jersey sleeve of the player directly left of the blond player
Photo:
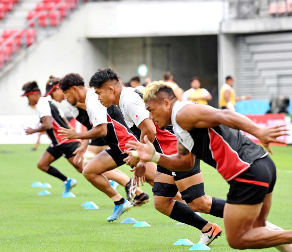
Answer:
M137 95L124 102L124 110L138 127L144 119L149 118L149 111L145 107L144 101Z

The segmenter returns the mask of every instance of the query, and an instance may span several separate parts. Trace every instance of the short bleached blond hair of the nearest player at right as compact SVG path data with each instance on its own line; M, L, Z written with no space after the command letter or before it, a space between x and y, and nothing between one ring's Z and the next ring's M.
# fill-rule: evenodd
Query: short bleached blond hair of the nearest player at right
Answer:
M147 85L144 94L143 94L143 100L144 102L148 102L149 100L153 100L157 97L159 91L165 91L169 95L173 95L175 97L175 94L172 90L172 88L165 84L164 81L153 81L149 85Z

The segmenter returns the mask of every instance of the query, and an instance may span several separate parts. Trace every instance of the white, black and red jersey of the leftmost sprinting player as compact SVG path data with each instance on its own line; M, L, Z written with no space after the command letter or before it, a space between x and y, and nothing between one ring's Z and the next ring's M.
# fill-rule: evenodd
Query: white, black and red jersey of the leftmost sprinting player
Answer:
M63 143L71 143L71 142L76 142L76 139L69 140L69 139L64 139L63 136L58 136L58 130L60 127L68 129L67 124L64 122L63 117L64 113L60 109L56 107L56 105L52 104L51 101L47 97L40 97L36 104L36 109L37 109L37 115L41 119L44 116L50 116L51 122L52 122L52 128L47 130L48 136L51 138L52 143L54 146L59 146Z

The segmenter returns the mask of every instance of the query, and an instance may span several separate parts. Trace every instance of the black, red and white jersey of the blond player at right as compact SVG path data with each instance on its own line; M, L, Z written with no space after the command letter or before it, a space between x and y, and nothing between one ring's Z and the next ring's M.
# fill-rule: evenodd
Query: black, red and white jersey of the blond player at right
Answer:
M176 122L176 114L188 104L196 106L191 101L177 101L172 107L173 131L189 152L216 168L225 180L236 178L249 169L256 159L268 155L239 130L222 124L213 128L193 128L190 131L182 129Z

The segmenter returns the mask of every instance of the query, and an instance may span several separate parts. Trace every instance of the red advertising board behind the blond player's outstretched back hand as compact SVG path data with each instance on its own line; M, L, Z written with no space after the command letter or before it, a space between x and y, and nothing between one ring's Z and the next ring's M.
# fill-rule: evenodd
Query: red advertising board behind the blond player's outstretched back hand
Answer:
M286 124L285 122L285 114L266 114L266 115L246 115L249 119L259 125L261 128L267 126L276 126ZM255 136L252 136L249 133L243 132L245 136L250 138L255 143L261 144L259 139ZM280 136L277 139L281 141L287 141L286 136ZM271 145L286 145L281 143L271 143Z

